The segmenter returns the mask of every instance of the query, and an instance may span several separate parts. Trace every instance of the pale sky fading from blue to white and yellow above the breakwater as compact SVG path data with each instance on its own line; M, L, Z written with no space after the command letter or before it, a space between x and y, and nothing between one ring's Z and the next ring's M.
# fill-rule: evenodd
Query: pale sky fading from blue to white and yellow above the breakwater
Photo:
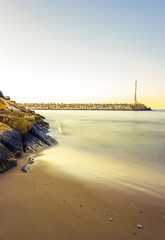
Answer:
M17 102L165 109L164 0L0 0L0 90Z

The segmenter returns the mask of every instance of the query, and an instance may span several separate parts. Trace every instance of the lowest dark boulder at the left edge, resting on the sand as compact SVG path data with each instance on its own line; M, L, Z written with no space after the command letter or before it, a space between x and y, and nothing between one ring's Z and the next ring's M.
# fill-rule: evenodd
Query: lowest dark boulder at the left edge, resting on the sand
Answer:
M17 160L13 154L0 143L0 173L17 165Z

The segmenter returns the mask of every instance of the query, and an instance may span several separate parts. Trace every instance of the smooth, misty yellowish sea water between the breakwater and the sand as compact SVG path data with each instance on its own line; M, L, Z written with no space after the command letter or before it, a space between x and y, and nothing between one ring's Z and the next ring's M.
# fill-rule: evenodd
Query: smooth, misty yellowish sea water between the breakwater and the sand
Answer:
M165 199L165 111L36 111L59 144L48 171Z

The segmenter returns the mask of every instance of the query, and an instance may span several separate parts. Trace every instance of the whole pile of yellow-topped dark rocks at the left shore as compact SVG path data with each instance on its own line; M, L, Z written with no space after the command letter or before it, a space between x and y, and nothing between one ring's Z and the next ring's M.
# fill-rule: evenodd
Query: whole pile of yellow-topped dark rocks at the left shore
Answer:
M44 117L18 106L0 91L0 173L16 166L22 152L56 144L48 130Z

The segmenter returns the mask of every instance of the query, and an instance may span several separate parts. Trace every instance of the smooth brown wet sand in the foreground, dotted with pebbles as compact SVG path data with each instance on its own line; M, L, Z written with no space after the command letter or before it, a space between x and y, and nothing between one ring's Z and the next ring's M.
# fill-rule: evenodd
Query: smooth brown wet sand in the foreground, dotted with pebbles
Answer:
M1 240L165 239L163 199L48 174L39 159L23 173L27 156L0 175Z

